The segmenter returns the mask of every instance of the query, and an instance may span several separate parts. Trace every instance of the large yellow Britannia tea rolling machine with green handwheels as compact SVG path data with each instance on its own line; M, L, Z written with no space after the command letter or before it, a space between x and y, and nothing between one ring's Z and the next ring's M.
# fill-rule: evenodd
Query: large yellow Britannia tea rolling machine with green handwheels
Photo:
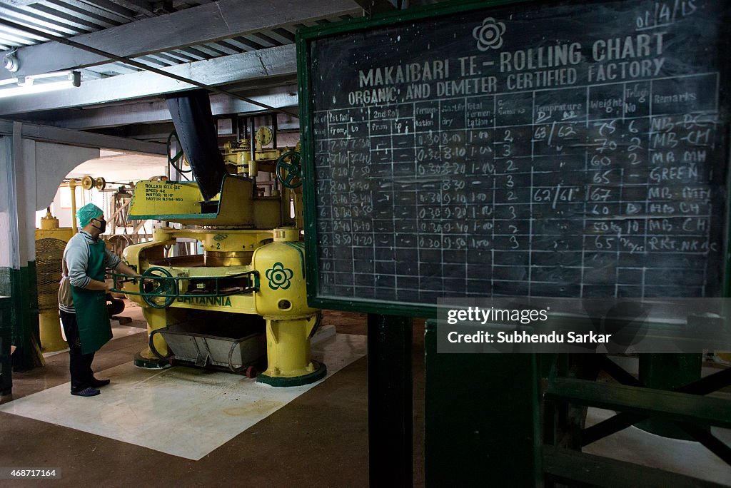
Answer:
M266 140L260 134L257 145ZM135 365L164 367L172 358L251 376L265 358L258 381L308 384L326 369L310 357L320 313L306 300L301 211L292 220L289 210L290 200L301 207L299 155L291 148L259 148L251 158L243 147L227 146L230 174L209 202L194 182L142 180L135 186L129 218L197 226L154 229L153 240L124 249L124 259L143 278L126 281L123 292L143 307L148 322L149 348L137 354ZM254 178L262 171L278 175L286 191L262 195ZM197 241L202 254L167 257L178 239Z

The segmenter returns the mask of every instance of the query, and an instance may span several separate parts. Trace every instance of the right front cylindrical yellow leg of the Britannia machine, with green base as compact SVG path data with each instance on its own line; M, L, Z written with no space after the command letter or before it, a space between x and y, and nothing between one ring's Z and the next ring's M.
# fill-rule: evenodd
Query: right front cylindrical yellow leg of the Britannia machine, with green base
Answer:
M310 335L317 317L267 319L268 365L257 381L272 386L298 386L325 377L325 365L310 358Z

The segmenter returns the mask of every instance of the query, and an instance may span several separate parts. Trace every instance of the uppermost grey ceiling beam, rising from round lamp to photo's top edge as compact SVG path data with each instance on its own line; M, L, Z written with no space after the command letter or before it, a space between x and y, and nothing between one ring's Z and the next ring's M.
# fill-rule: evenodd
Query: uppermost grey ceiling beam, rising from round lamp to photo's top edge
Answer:
M135 57L205 44L314 19L360 12L354 0L219 0L70 38L117 56ZM102 64L104 56L59 42L20 47L20 69L0 69L0 80Z

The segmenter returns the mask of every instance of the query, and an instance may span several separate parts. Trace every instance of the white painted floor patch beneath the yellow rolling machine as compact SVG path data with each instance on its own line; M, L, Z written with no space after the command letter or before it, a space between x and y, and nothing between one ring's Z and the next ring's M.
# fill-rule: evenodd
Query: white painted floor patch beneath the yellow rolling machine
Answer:
M312 347L327 377L365 354L363 335L338 334ZM0 405L0 411L200 460L319 384L274 388L192 367L142 370L131 360L96 377L112 380L96 397L73 397L67 383Z

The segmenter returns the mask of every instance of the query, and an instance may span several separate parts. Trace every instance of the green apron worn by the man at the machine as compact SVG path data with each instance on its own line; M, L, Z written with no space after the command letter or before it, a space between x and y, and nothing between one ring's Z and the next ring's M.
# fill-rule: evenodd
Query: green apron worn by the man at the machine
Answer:
M89 259L86 274L96 281L104 281L105 243L97 240L89 243ZM107 314L107 291L71 287L79 327L81 354L99 351L112 338L112 324Z

